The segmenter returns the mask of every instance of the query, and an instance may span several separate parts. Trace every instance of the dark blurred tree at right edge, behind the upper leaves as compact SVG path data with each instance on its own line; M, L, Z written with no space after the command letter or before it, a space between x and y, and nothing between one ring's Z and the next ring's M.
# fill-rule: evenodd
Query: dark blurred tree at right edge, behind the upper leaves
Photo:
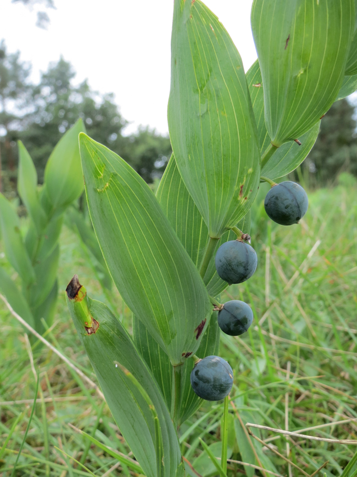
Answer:
M354 113L354 106L342 99L333 103L322 118L317 140L302 165L303 175L310 186L332 184L342 171L357 175Z

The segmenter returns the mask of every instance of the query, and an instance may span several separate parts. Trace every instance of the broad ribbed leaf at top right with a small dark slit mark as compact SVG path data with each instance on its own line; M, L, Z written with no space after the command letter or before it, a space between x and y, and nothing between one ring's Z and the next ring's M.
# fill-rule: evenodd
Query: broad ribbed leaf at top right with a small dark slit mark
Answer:
M252 31L272 143L300 138L335 101L354 32L354 0L254 0Z

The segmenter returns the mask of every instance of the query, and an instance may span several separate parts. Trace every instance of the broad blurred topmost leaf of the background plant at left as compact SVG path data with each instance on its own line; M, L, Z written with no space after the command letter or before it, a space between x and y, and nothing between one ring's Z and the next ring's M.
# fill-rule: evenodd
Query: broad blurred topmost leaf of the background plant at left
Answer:
M45 188L53 209L63 209L83 192L84 183L80 165L78 134L85 132L78 119L58 141L45 168Z

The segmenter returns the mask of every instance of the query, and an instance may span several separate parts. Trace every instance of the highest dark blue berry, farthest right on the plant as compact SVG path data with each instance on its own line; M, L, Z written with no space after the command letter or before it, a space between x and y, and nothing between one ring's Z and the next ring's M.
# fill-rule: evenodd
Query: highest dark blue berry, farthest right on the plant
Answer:
M264 200L265 212L277 224L298 224L306 214L308 199L304 189L291 181L273 186Z

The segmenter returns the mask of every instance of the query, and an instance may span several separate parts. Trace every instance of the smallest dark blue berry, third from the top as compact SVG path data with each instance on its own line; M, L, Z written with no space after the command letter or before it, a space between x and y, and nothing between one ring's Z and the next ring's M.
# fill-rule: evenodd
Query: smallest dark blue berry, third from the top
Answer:
M218 312L218 325L226 335L243 335L253 322L253 311L240 300L231 300Z

